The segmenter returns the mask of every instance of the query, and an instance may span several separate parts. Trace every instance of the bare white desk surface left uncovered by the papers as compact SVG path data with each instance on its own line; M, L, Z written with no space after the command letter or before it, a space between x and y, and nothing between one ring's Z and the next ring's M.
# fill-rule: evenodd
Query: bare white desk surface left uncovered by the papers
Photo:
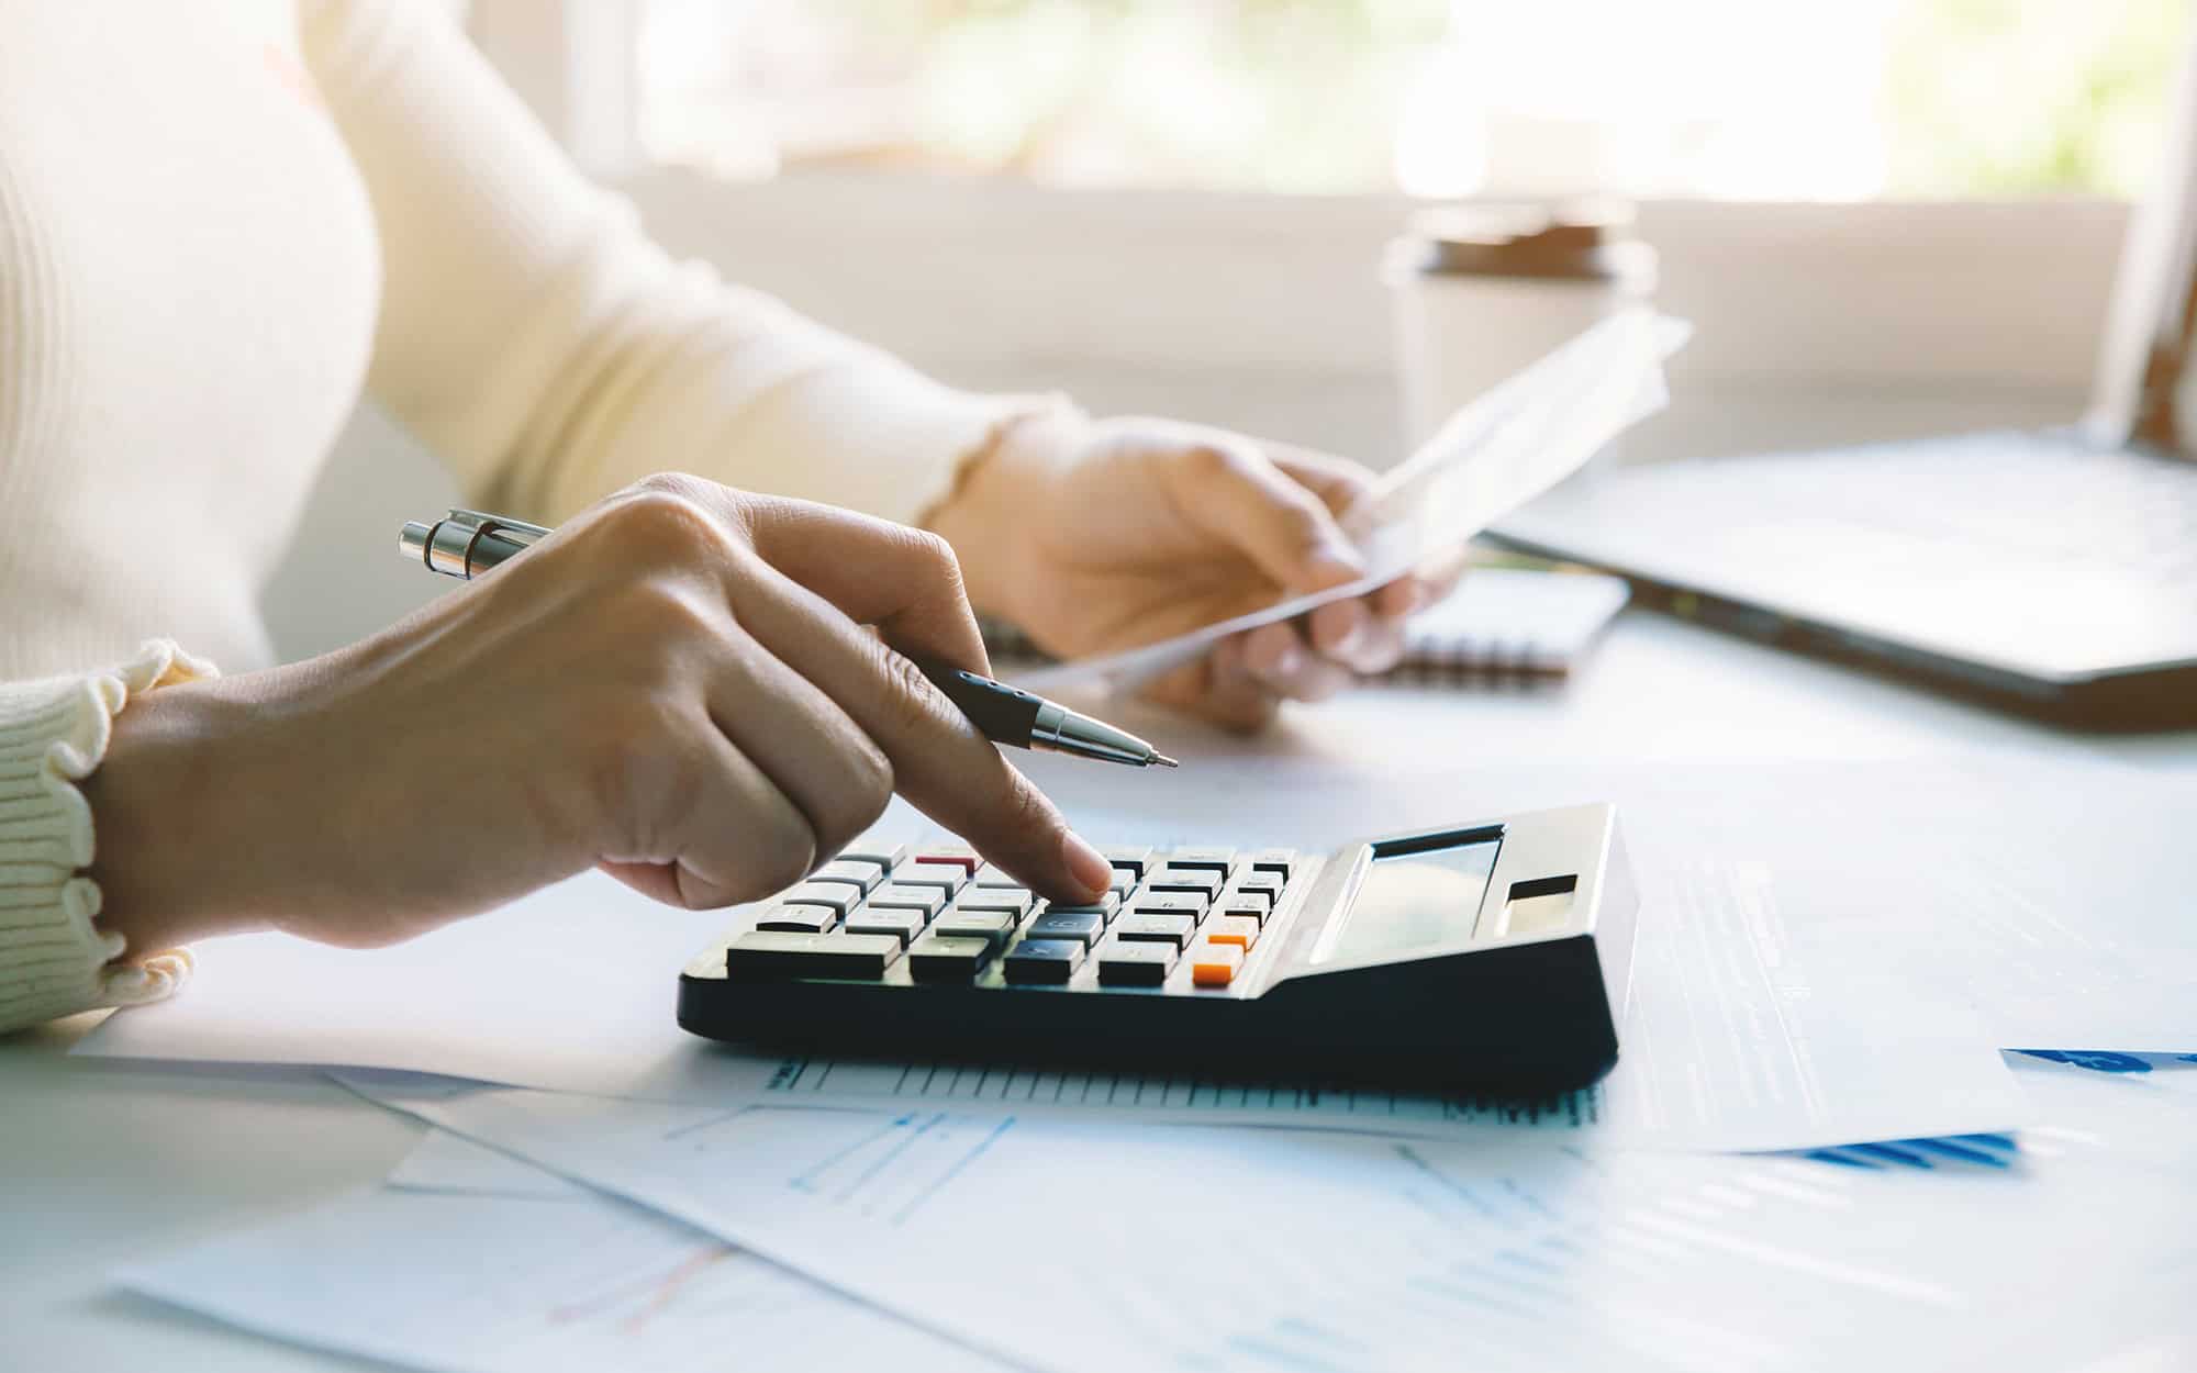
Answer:
M1136 727L1134 710L1114 714ZM1430 745L1490 762L2074 754L2197 778L2197 732L2056 734L1637 611L1562 692L1367 690L1296 712L1254 745L1208 736L1191 754L1353 754L1380 767ZM116 1294L105 1272L143 1250L371 1186L417 1127L310 1074L66 1059L90 1022L0 1039L0 1366L378 1366L233 1336Z

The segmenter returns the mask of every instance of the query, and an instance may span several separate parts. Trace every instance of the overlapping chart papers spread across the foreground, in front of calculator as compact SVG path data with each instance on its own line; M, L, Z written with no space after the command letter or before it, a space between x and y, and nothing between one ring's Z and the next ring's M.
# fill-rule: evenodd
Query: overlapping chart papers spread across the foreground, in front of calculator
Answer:
M2065 1125L1911 1164L354 1074L501 1153L431 1134L378 1191L121 1276L448 1373L707 1349L767 1369L2182 1366L2197 1105L2017 1072Z

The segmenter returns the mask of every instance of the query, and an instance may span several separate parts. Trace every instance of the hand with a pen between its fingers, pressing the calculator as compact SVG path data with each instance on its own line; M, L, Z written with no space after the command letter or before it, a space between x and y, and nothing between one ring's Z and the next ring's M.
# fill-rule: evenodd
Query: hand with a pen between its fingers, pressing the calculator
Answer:
M940 538L644 481L363 644L134 701L86 786L101 923L138 951L382 945L589 866L729 905L894 791L1044 894L1103 890L1105 859L888 644L986 668Z

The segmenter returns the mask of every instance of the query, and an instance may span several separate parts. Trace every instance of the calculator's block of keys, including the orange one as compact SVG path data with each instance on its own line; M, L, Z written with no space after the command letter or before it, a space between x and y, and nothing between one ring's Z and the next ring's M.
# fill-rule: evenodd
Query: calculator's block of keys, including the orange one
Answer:
M896 978L923 984L1226 989L1301 868L1274 848L1103 852L1114 888L1055 905L962 846L857 841L780 894L727 947L725 971L881 980L899 964Z

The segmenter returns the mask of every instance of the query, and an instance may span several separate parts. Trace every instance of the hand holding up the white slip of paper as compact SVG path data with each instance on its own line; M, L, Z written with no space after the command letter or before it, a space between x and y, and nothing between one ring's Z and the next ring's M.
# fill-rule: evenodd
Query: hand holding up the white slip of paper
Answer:
M1336 516L1369 485L1362 466L1285 444L1050 413L1013 424L929 525L960 554L980 611L1088 657L1358 580ZM1331 696L1395 663L1404 617L1446 595L1461 565L1459 547L1303 624L1224 639L1151 696L1239 729L1283 696Z

